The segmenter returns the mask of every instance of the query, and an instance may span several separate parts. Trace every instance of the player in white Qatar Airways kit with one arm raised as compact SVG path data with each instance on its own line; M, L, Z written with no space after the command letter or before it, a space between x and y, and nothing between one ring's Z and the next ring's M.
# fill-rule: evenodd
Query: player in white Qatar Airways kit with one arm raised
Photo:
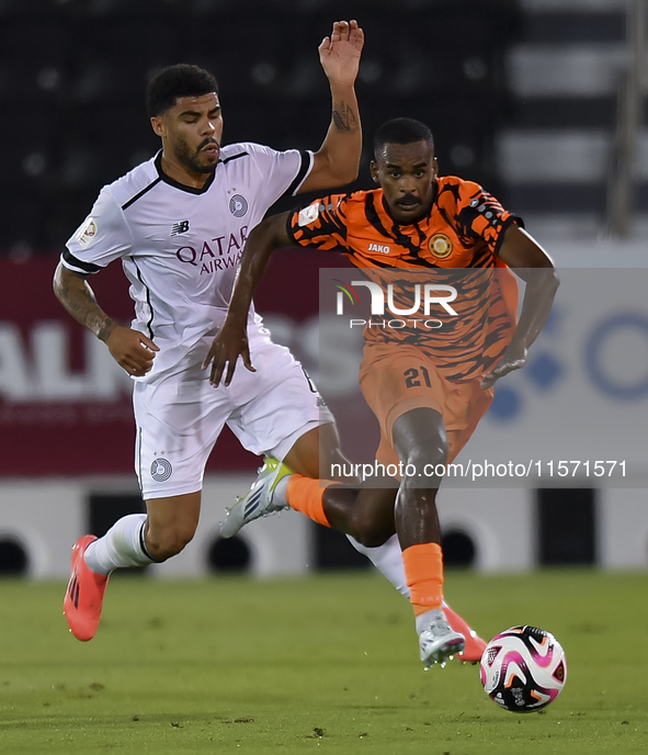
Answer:
M113 570L166 561L192 539L205 463L226 422L247 449L304 475L318 476L320 441L328 462L343 462L332 416L253 312L248 331L257 372L241 370L229 387L215 388L202 367L252 227L286 193L356 178L362 135L353 86L362 46L357 23L342 21L319 47L332 119L315 154L221 147L216 80L195 66L163 70L148 90L161 151L104 187L67 243L55 293L134 379L135 467L147 505L146 515L126 516L103 538L75 544L64 609L79 640L96 632ZM87 283L117 259L135 302L130 328L101 309Z

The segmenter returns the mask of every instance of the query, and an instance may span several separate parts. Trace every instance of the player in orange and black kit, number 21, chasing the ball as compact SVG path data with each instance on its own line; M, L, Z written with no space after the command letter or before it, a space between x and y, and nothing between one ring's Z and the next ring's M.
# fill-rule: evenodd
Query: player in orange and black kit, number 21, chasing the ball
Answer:
M443 612L435 505L441 476L429 471L452 462L490 406L494 382L525 364L558 280L552 260L523 230L519 217L480 185L439 176L432 133L424 124L410 119L385 123L376 133L374 156L372 177L379 189L323 196L270 217L252 232L229 314L205 367L213 361L215 385L224 372L229 383L239 356L247 369L254 369L247 312L277 247L340 251L366 268L370 280L383 284L394 280L394 269L434 269L435 283L456 281L457 269L471 269L459 279L462 296L453 300L458 317L447 331L421 333L416 325L365 330L360 384L380 426L377 461L386 465L400 460L406 470L396 498L393 491L366 488L350 496L337 483L270 465L230 509L224 527L231 537L248 521L289 506L361 542L372 537L384 541L395 531L421 660L430 667L461 653L464 636ZM518 286L510 269L526 283L519 319Z

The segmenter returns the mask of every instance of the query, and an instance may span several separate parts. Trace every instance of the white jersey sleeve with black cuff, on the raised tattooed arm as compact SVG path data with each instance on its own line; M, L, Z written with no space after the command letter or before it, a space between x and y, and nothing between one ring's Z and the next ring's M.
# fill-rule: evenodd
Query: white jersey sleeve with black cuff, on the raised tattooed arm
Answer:
M284 195L295 195L312 170L314 156L309 150L276 151L259 144L247 144L246 150L253 158L269 206Z

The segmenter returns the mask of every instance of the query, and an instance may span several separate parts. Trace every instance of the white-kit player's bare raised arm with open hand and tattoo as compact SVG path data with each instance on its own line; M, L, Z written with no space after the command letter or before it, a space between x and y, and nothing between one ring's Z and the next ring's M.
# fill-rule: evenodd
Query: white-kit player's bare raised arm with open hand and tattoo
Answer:
M331 36L319 46L319 60L331 87L331 124L298 193L342 187L357 178L362 128L354 83L363 44L357 21L337 21Z

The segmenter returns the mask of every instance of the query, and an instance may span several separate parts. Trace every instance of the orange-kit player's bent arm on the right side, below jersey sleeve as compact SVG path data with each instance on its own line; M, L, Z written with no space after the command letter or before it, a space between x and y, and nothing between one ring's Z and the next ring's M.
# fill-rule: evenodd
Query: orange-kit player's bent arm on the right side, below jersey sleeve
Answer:
M559 284L547 252L516 225L507 230L500 248L500 259L515 271L526 283L526 288L511 343L500 362L481 380L482 388L489 388L500 378L526 364L528 347L547 322Z

